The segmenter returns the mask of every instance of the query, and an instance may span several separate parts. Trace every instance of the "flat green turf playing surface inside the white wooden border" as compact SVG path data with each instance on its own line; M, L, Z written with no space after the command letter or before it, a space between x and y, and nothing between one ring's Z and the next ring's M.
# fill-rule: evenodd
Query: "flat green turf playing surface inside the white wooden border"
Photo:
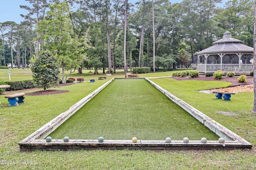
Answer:
M114 80L50 134L53 139L218 140L146 80Z

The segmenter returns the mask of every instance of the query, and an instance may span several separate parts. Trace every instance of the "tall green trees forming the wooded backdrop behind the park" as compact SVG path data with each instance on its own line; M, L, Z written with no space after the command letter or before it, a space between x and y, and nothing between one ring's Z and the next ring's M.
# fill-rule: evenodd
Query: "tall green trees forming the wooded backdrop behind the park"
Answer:
M28 11L22 14L25 22L0 23L2 65L27 67L25 58L48 50L58 54L62 72L88 67L97 73L125 65L172 69L190 65L227 30L253 46L252 0L228 0L223 7L221 0L27 1L31 6L20 6Z

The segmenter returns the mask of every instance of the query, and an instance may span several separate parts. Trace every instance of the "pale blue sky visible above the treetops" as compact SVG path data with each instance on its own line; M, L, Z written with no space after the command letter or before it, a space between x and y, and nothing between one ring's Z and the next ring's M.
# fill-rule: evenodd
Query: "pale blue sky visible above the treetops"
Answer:
M172 3L182 2L182 0L170 0ZM224 3L226 0L222 0ZM128 2L137 2L137 0L128 0ZM223 6L223 3L220 6ZM20 14L28 14L27 10L20 9L20 5L28 5L29 2L26 0L0 0L0 22L5 21L14 21L16 23L20 23L23 21L23 18Z

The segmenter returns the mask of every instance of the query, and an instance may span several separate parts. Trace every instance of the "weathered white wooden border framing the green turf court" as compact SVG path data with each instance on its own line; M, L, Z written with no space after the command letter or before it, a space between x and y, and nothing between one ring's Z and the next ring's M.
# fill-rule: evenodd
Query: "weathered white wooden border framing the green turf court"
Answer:
M170 76L166 76L170 77ZM154 78L164 78L164 77L154 77ZM164 95L166 95L170 100L178 104L198 121L203 123L206 127L212 130L216 135L225 139L225 143L219 143L218 141L207 141L207 143L201 143L201 141L189 141L189 143L184 143L183 141L172 141L171 143L166 143L165 141L151 141L151 140L138 140L133 143L132 140L104 140L103 143L99 143L98 140L85 140L76 139L64 142L63 139L52 139L51 142L46 142L45 138L57 129L64 121L66 121L70 116L72 116L76 111L78 111L84 104L90 101L96 94L98 94L102 89L104 89L108 84L110 84L115 78L112 78L88 96L71 106L67 111L61 113L56 118L52 119L50 122L46 123L40 129L20 141L18 144L20 146L20 151L33 151L33 150L92 150L92 149L150 149L150 150L188 150L188 149L205 149L205 150L230 150L230 149L251 149L252 145L237 135L236 133L230 131L220 123L214 121L210 117L204 115L202 112L198 111L194 107L188 105L183 100L180 100L176 96L172 95L170 92L164 88L158 86L156 83L152 82L151 78L143 78L148 81L152 86L160 90ZM120 78L116 78L120 79ZM124 78L124 79L138 79L138 78ZM141 79L141 78L140 78Z

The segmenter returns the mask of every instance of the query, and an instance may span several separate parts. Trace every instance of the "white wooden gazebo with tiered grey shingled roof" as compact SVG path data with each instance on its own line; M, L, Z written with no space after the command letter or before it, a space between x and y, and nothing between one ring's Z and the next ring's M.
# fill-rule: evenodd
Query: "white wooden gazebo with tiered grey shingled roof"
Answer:
M243 41L231 37L226 31L222 39L212 43L211 47L199 51L198 72L234 71L236 74L248 74L253 71L253 48L243 45Z

